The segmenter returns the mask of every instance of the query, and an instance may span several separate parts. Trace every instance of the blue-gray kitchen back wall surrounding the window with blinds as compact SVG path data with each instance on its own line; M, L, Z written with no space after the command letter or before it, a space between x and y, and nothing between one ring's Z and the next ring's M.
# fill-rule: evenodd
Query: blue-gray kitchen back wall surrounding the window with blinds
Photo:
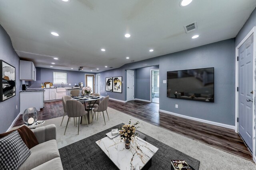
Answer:
M71 70L57 70L51 68L40 68L36 67L36 81L29 81L29 88L40 88L41 83L52 82L53 83L53 72L66 72L67 82L71 85L65 84L65 87L73 87L75 84L78 85L79 82L83 82L85 86L85 76L84 74L94 74L93 72L82 72L82 71L71 71ZM95 75L95 74L94 74ZM58 85L54 85L58 86ZM60 86L60 85L59 85Z

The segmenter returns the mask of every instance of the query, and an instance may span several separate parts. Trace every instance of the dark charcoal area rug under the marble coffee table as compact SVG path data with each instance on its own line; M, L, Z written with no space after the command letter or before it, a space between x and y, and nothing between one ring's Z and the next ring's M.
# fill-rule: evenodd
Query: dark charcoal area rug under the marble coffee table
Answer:
M60 158L64 170L118 170L115 164L95 142L104 138L106 136L105 134L110 132L111 129L120 128L122 125L124 124L116 125L88 138L60 148ZM172 167L170 160L177 159L186 160L194 170L199 169L199 160L169 147L148 135L146 135L146 141L155 147L158 147L158 151L152 157L152 166L150 167L150 170L170 170Z

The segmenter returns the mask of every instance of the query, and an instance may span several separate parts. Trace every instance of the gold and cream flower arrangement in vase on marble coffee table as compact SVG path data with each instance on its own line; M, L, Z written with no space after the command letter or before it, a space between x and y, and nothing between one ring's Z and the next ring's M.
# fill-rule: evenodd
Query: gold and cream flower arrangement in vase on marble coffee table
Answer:
M121 137L121 140L124 139L125 141L125 149L130 149L130 142L138 135L138 133L135 133L136 129L139 128L138 124L140 122L137 121L136 123L131 125L131 119L129 121L128 125L123 125L119 129L119 135Z

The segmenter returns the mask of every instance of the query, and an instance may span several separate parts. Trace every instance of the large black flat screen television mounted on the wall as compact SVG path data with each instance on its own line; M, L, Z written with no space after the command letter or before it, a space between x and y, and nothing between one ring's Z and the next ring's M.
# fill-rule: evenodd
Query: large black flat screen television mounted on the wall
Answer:
M214 102L214 67L168 71L167 97Z

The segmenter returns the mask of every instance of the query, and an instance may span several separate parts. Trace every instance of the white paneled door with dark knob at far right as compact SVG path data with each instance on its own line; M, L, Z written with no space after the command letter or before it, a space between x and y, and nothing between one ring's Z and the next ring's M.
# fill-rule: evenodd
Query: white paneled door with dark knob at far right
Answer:
M238 133L253 145L253 35L238 49Z

